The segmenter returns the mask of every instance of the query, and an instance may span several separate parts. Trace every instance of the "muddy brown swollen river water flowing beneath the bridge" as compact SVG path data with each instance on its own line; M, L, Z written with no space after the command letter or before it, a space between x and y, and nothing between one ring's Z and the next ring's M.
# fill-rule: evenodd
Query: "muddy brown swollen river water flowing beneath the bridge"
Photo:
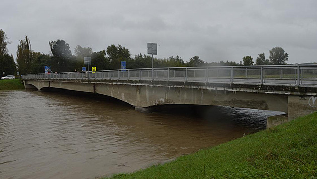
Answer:
M141 113L76 92L0 91L0 178L94 178L131 172L266 127L282 114L166 105Z

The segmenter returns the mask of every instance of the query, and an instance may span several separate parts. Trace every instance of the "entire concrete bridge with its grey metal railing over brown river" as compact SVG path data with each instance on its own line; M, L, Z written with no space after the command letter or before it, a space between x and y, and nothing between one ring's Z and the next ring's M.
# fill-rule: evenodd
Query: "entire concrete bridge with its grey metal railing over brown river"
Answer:
M316 111L317 65L143 68L29 74L25 88L98 93L137 110L165 104L282 111L288 120Z

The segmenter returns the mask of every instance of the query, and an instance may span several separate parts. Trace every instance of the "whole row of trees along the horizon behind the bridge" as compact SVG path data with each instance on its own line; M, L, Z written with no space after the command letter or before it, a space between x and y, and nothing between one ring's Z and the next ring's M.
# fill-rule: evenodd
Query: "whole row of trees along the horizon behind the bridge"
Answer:
M28 36L20 40L17 46L17 58L14 62L13 55L8 54L7 45L11 42L5 32L0 29L0 72L6 75L13 75L16 71L20 74L44 73L44 66L50 66L53 72L80 71L84 67L84 57L91 57L91 66L96 66L97 70L121 69L121 61L126 61L127 69L151 68L152 57L146 54L132 56L129 49L122 45L109 45L105 50L94 52L90 47L77 45L74 54L70 46L64 40L49 41L50 54L34 52ZM154 67L198 67L198 66L237 66L253 65L251 56L243 57L242 62L233 61L205 62L199 56L194 56L189 61L179 56L168 58L154 58ZM286 64L288 54L281 47L270 50L269 59L265 59L264 53L259 54L255 65L276 65Z

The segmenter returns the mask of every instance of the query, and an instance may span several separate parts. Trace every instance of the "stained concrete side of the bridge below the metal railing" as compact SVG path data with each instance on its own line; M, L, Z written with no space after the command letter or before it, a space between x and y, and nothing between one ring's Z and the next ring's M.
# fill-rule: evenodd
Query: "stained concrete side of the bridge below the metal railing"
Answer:
M292 92L258 86L206 86L198 83L141 83L139 81L24 80L26 88L46 87L98 93L127 102L137 109L166 104L222 105L288 113L288 120L316 110L313 91ZM317 102L316 102L317 103ZM316 104L317 107L317 104Z

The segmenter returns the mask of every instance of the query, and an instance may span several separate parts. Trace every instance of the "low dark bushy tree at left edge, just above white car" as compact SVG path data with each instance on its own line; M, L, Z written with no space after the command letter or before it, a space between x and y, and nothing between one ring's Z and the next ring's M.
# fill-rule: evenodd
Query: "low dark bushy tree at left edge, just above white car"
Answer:
M0 72L1 75L5 72L6 75L14 75L16 72L16 63L13 56L8 54L0 54Z

